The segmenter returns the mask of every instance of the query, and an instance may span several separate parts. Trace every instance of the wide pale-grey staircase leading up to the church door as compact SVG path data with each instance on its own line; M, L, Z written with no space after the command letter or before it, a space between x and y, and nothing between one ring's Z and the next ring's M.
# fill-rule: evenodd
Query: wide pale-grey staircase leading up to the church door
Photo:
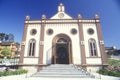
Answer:
M68 64L54 64L44 67L39 72L36 72L32 77L44 78L92 78L95 76L86 72L80 67Z

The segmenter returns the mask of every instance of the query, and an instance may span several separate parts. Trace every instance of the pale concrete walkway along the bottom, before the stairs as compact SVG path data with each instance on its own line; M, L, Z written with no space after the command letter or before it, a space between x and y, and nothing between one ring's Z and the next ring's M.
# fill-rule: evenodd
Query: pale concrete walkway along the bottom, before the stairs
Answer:
M101 75L101 79L89 79L89 78L44 78L44 77L30 77L31 73L14 76L3 76L0 80L120 80L120 77L104 76Z

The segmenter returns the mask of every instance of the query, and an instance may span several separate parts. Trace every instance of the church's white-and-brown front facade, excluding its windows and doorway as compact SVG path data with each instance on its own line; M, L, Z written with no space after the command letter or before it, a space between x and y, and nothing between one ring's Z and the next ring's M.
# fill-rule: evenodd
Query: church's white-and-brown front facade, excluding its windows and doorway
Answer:
M51 64L53 39L59 34L65 34L71 39L73 59L71 63L83 66L87 70L98 70L106 63L104 42L99 22L99 15L97 14L93 19L83 19L80 14L77 19L73 19L65 12L63 4L58 6L58 12L50 19L46 19L46 16L42 15L41 20L30 20L30 16L26 16L20 63L24 68L35 70L40 70L38 67L40 64ZM73 28L77 30L75 35L71 34L71 29ZM88 34L89 28L94 30L94 34ZM37 30L37 34L34 36L30 34L32 29ZM48 29L53 30L52 35L47 34ZM97 46L97 56L94 57L90 56L88 40L91 38L96 41ZM35 56L33 57L28 56L30 39L36 40ZM27 67L25 67L25 64L27 64Z

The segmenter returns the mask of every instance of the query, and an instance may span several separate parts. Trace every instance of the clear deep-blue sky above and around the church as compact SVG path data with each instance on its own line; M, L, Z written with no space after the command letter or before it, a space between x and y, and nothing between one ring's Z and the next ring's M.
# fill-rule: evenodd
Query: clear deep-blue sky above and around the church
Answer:
M0 32L12 33L15 41L21 42L26 15L31 19L47 18L57 13L57 6L63 3L66 13L74 18L100 15L105 46L120 49L120 0L0 0Z

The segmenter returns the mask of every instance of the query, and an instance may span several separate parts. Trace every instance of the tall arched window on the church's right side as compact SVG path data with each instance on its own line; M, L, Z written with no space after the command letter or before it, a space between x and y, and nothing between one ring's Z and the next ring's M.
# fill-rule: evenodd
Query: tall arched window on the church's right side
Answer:
M92 57L97 56L97 47L94 39L89 39L89 50Z

